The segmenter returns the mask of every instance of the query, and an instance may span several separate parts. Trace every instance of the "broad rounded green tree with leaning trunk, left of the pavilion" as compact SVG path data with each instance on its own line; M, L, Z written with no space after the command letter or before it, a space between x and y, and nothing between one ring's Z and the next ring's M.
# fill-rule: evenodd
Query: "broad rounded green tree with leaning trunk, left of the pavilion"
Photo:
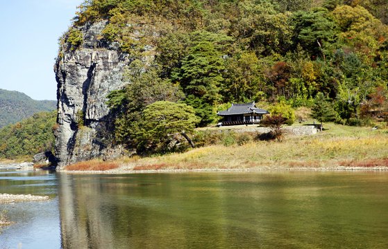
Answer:
M169 101L158 101L144 109L141 132L137 134L138 153L156 151L165 153L174 151L169 146L176 133L188 139L187 133L194 130L199 118L195 116L193 107ZM189 142L191 140L188 139Z

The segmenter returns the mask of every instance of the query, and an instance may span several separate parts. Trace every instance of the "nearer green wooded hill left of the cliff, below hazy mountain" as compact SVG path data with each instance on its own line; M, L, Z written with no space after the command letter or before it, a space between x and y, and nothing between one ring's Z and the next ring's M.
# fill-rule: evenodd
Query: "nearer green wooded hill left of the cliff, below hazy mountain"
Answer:
M35 113L31 118L0 129L0 159L24 158L53 151L56 111Z

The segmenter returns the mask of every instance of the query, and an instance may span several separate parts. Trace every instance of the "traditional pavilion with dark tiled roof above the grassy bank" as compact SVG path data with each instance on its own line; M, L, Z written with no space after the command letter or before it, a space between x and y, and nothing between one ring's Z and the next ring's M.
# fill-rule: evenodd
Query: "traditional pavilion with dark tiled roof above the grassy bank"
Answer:
M232 104L226 111L219 111L218 116L223 117L221 125L258 124L263 115L269 114L267 110L256 107L255 102L246 104Z

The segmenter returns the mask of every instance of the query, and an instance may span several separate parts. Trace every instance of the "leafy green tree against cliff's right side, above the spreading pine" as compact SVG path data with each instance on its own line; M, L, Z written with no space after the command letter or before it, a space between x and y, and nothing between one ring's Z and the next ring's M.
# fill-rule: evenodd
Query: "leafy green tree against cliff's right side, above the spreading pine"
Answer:
M124 73L128 84L108 95L108 107L115 117L115 139L128 147L136 146L134 134L140 129L142 111L156 101L176 102L183 98L178 85L158 77L154 66L135 60Z

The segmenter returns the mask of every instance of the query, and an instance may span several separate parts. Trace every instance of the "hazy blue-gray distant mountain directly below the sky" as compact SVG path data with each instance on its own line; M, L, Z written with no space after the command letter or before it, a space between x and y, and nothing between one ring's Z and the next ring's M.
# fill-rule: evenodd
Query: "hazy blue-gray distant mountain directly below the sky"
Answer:
M55 100L33 100L24 93L0 89L0 128L41 111L56 109Z

